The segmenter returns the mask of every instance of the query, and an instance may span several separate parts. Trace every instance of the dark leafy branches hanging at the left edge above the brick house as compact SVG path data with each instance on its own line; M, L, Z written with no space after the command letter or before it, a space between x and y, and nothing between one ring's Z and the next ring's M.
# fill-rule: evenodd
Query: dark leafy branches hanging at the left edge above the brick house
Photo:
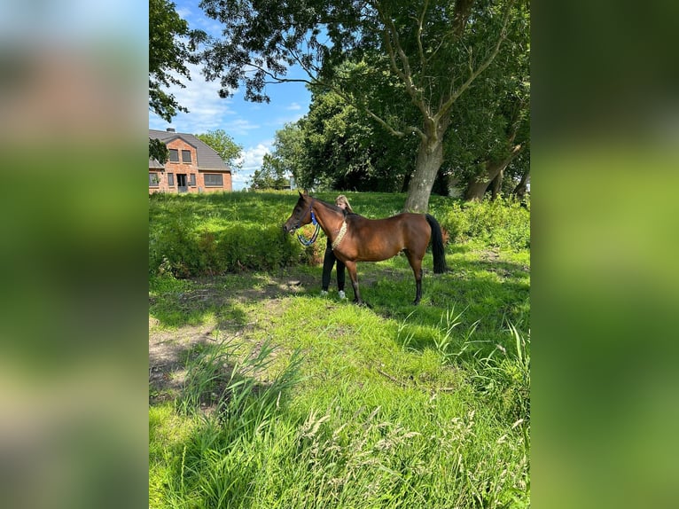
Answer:
M189 29L189 24L176 13L175 4L149 0L149 110L161 119L169 122L177 112L189 111L163 89L170 84L185 87L177 74L191 80L186 62L197 62L193 51L204 38L204 32ZM149 138L149 158L167 161L165 144Z

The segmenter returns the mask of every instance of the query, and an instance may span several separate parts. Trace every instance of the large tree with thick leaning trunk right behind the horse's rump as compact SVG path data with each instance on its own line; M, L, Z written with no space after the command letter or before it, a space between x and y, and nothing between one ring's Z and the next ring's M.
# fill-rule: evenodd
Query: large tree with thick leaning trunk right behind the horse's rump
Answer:
M203 0L200 6L223 25L223 40L203 53L206 77L221 80L222 97L244 82L246 99L268 101L267 83L291 81L287 68L299 65L308 79L292 81L334 90L395 137L418 138L404 209L424 212L452 106L495 59L527 0ZM339 64L347 58L363 66L342 74ZM417 123L392 107L396 96L410 101Z

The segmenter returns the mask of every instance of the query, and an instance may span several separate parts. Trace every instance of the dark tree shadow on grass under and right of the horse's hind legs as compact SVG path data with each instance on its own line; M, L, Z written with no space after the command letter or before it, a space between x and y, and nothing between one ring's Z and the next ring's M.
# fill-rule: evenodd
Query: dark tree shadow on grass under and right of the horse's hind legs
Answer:
M445 342L462 348L471 338L476 342L470 351L489 352L497 345L511 347L509 324L524 332L530 328L529 267L502 261L493 252L472 257L468 250L449 247L449 271L444 274L434 274L425 263L418 306L411 303L415 282L407 261L394 259L388 270L368 269L363 298L373 312L398 323L394 341L402 348L423 351Z

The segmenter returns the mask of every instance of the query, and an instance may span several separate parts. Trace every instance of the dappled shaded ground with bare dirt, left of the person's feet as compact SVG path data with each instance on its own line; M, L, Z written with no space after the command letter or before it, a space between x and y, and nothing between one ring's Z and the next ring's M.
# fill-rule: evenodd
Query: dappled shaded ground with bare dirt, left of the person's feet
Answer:
M191 356L199 355L220 341L243 339L257 348L258 332L268 325L262 313L272 317L285 311L286 296L304 294L314 278L304 270L273 276L245 272L215 278L157 278L149 287L149 402L179 397ZM258 310L255 318L248 308Z

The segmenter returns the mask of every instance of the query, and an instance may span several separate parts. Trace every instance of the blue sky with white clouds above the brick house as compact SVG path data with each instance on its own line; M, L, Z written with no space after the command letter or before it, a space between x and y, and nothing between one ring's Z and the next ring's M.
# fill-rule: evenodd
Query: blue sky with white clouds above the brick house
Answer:
M219 23L207 18L198 6L199 0L175 0L175 4L176 12L188 21L189 27L221 35ZM206 82L199 67L188 67L191 81L181 80L186 88L172 87L169 91L180 105L189 109L189 113L177 114L168 124L149 112L149 128L172 127L177 132L191 134L223 129L243 147L243 168L233 176L233 190L244 189L254 170L261 168L264 154L271 151L276 131L283 129L286 122L297 121L307 114L311 94L303 83L295 82L267 85L269 104L247 102L245 89L237 90L231 98L222 99L217 94L219 82ZM289 75L300 76L300 72L293 71Z

